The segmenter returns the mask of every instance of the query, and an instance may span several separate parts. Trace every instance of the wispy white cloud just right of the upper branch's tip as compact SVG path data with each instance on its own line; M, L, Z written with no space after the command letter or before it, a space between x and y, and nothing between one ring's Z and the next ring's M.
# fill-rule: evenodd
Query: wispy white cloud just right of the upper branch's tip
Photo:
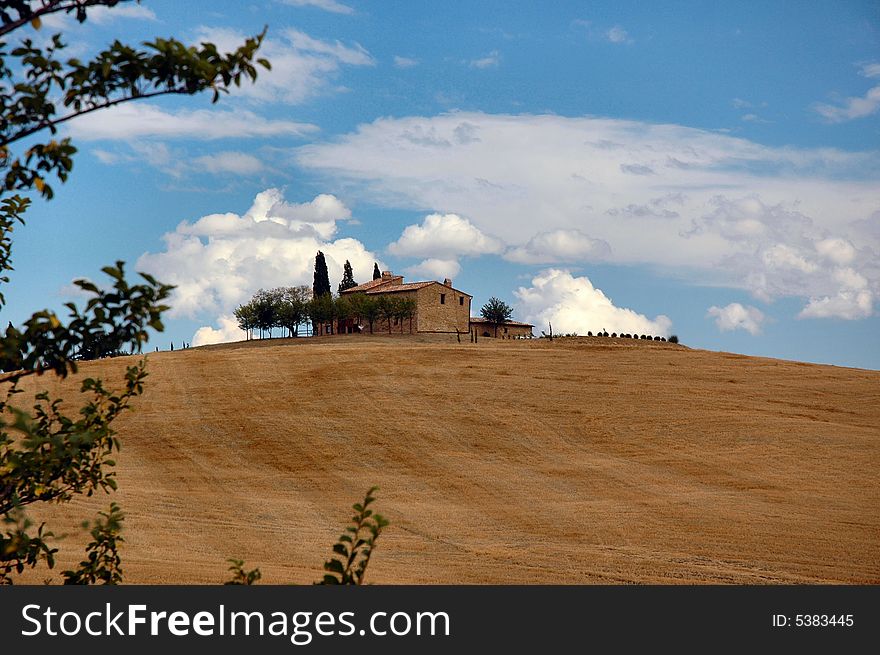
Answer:
M215 43L223 51L237 48L244 32L229 28L201 27L199 41ZM257 102L301 104L311 98L340 90L331 85L343 66L373 66L375 60L359 43L324 41L293 28L273 32L260 47L260 55L272 62L272 70L259 69L256 84L243 84L236 97Z

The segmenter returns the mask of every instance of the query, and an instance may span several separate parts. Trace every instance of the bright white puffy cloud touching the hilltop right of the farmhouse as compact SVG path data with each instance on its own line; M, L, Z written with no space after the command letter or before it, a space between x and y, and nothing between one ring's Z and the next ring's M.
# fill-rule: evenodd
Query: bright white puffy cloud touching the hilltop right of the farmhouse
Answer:
M514 291L518 315L540 330L548 323L554 332L624 332L665 336L672 322L660 315L653 320L631 309L616 307L587 277L548 269L532 279L531 287Z

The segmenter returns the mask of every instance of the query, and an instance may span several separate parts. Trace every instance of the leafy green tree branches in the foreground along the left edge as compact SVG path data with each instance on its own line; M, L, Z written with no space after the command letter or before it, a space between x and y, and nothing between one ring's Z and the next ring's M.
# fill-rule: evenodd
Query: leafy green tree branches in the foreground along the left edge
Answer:
M240 48L221 53L210 43L187 46L175 39L156 39L133 47L115 41L93 59L61 59L60 34L40 46L30 38L10 45L8 35L19 28L40 28L42 17L66 12L79 22L90 8L112 7L117 0L11 0L0 5L0 284L12 270L13 229L24 224L35 190L53 196L49 178L64 182L73 168L76 148L69 138L56 140L59 125L105 107L160 95L191 95L210 91L217 101L231 85L257 77L256 59L263 34ZM44 139L43 134L48 133ZM27 146L17 150L27 139ZM21 392L20 381L38 373L65 377L76 372L78 359L140 352L148 328L162 331L164 301L171 287L149 275L130 284L124 265L102 269L111 287L99 289L86 280L77 286L89 300L83 308L65 305L68 320L54 312L37 312L21 327L11 324L0 337L0 583L45 561L51 568L57 548L45 524L35 526L27 510L36 503L65 503L80 495L116 488L114 452L119 440L113 421L130 400L143 392L145 362L129 366L121 390L105 388L98 379L82 382L86 403L70 414L60 398L38 393L32 411L11 404ZM0 307L3 297L0 295ZM73 582L118 582L116 559L121 524L118 507L101 515L92 532L87 559L65 572Z

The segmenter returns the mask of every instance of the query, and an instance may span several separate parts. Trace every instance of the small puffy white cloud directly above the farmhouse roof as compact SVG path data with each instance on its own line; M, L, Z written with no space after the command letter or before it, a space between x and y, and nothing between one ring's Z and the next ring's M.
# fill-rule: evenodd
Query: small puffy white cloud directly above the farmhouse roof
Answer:
M502 243L456 214L429 214L421 225L409 225L388 251L402 257L450 259L499 253Z

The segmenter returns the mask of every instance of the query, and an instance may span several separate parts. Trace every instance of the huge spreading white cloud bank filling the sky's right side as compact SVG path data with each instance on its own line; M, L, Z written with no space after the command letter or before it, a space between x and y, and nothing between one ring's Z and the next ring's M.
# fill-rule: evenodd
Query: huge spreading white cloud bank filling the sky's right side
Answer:
M597 117L451 112L378 119L298 148L296 160L386 206L468 216L531 261L540 234L577 230L608 244L610 263L678 269L762 300L834 299L847 290L835 277L844 266L880 292L873 151L770 147ZM557 256L547 263L570 255Z

